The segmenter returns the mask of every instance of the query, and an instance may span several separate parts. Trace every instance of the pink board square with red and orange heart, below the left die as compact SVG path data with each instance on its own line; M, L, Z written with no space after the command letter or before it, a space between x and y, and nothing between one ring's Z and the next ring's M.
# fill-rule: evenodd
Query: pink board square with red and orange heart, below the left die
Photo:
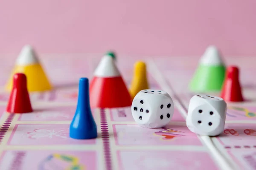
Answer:
M139 125L113 125L116 145L196 145L202 146L186 126L167 125L150 129Z

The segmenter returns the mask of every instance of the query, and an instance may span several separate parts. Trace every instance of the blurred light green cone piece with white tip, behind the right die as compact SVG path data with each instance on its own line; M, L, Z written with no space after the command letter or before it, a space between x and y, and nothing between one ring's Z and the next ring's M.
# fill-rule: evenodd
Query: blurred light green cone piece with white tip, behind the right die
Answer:
M225 77L225 65L215 46L209 46L199 61L199 66L190 82L190 91L218 92Z

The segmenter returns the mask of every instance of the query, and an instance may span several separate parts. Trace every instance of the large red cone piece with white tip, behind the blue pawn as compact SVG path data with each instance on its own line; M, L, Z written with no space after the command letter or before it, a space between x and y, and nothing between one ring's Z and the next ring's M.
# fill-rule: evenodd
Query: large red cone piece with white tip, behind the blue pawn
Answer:
M93 108L131 106L131 95L119 73L114 59L104 56L90 83L90 104Z

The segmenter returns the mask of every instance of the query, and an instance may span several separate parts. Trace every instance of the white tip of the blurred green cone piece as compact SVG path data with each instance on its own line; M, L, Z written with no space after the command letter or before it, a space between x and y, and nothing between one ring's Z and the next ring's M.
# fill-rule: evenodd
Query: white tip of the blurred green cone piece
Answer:
M210 45L200 59L202 65L224 65L221 54L214 45Z

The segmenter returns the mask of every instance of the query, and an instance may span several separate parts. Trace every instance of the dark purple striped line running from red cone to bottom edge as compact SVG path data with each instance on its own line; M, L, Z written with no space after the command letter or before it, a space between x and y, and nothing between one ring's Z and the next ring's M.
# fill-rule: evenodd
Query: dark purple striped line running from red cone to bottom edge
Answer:
M100 121L101 121L101 133L102 133L102 141L103 141L103 149L105 155L105 165L106 170L112 170L111 163L111 148L109 144L109 132L108 132L108 122L106 120L105 109L100 109Z

